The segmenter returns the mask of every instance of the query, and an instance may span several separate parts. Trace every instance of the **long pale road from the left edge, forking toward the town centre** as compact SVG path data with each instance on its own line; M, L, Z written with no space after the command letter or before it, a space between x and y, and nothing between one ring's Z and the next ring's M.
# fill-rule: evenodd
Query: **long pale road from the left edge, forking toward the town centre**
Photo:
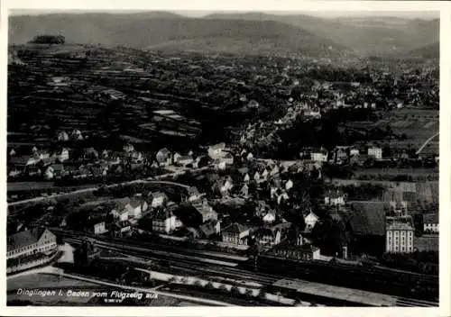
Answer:
M210 168L210 167L191 169L191 171L192 172L198 172L198 171L205 170L207 168ZM159 181L158 180L158 179L165 178L165 177L180 176L180 175L185 174L188 170L189 169L186 169L186 168L185 169L180 168L179 170L175 170L172 173L159 175L157 177L147 177L147 178L143 178L143 179L135 179L135 180L132 180L132 181L127 181L127 182L123 182L123 183L108 185L106 187L107 188L114 188L116 186L126 186L126 185L144 184L144 183L149 183L150 184L150 183L152 183L152 184L168 184L168 185L174 185L174 186L181 186L181 187L184 187L184 188L189 188L189 186L187 186L185 184L176 183L176 182L170 182L170 181ZM21 201L9 203L8 207L19 206L21 204L28 204L28 203L38 203L38 202L46 201L46 200L49 200L49 199L68 197L70 195L79 195L79 194L92 193L92 192L96 191L97 189L98 189L98 187L88 187L88 188L78 189L78 190L70 192L70 193L55 194L55 195L49 195L49 196L46 196L46 197L35 197L35 198L30 198L30 199L24 199L24 200L21 200Z

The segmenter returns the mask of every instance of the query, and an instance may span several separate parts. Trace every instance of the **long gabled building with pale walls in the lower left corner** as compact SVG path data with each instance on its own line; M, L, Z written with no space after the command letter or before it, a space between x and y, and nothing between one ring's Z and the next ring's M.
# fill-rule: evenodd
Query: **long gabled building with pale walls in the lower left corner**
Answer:
M6 259L47 254L58 249L56 236L44 228L14 233L7 240Z

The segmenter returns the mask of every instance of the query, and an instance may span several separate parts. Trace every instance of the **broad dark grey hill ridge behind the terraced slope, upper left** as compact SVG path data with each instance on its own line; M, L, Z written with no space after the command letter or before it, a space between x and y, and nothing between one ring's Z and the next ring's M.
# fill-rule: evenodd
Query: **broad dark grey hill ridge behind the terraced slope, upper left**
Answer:
M59 32L68 43L159 50L234 53L299 52L314 57L348 52L345 46L299 26L274 21L194 19L177 14L47 14L12 16L9 41Z

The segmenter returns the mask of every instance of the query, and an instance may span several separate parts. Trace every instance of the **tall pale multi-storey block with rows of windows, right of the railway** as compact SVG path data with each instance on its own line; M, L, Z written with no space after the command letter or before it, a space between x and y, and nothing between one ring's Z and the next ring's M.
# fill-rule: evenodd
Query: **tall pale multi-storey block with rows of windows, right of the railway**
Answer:
M413 233L415 229L410 216L387 217L386 224L386 252L413 252Z

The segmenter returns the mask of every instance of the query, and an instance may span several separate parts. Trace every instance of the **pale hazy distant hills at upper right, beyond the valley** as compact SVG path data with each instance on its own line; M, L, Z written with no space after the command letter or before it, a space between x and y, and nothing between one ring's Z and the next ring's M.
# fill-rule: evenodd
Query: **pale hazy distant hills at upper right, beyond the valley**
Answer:
M209 14L207 19L277 21L301 27L364 55L403 53L439 41L439 21L396 17L323 19L309 15Z

